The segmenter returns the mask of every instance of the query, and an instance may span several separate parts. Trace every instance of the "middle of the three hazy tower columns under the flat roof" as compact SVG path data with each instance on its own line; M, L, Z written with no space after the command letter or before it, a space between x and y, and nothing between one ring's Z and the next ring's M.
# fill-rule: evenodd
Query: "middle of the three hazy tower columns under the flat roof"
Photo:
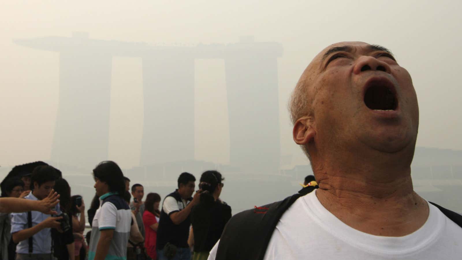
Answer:
M175 47L143 56L140 165L194 160L194 56Z

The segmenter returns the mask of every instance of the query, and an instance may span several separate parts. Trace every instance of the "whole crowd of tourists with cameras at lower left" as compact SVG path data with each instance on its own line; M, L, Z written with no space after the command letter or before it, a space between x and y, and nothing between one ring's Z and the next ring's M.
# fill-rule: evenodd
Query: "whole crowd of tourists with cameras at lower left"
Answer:
M145 199L142 184L130 186L115 162L103 161L93 169L96 194L88 210L62 175L33 162L13 168L3 180L2 259L205 260L231 218L231 207L219 199L224 178L218 171L202 173L196 192L195 176L181 173L177 189L162 203L154 192ZM42 204L7 210L11 198L43 201L48 211ZM86 234L85 214L91 226Z

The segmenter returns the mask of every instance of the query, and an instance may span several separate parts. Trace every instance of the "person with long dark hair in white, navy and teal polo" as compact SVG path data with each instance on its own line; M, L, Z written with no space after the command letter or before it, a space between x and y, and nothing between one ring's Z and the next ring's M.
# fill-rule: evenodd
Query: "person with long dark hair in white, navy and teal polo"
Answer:
M95 190L101 206L93 218L88 259L125 259L132 212L124 201L125 181L120 167L103 161L93 169Z

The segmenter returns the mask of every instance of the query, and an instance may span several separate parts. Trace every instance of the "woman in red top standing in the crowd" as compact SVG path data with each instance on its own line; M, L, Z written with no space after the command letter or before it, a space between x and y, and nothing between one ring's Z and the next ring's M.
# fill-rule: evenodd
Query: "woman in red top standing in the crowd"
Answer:
M145 248L151 259L157 259L156 241L157 228L159 225L159 204L160 196L157 193L149 193L145 200L145 211L143 213L143 224L145 226Z

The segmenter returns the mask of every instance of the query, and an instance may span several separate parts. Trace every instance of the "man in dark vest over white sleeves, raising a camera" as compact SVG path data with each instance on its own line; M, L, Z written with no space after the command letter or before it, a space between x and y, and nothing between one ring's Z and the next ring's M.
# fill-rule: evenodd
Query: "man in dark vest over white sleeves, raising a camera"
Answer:
M158 260L190 260L188 246L189 214L193 206L199 203L201 190L194 198L196 178L191 173L181 173L178 177L178 189L164 198L157 229Z

